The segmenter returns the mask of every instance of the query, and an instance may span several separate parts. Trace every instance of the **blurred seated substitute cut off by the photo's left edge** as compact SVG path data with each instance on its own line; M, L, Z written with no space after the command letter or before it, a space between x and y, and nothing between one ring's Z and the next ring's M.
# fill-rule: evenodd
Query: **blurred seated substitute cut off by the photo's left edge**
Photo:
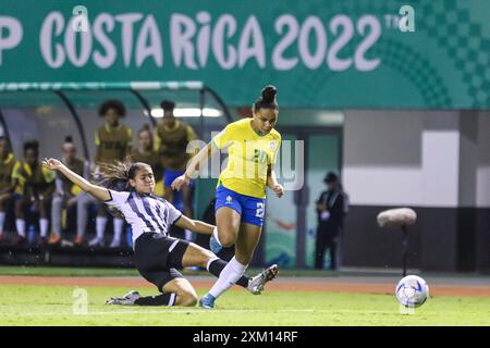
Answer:
M4 226L9 208L13 206L16 179L14 170L20 162L15 160L9 140L0 137L0 241L4 238Z

